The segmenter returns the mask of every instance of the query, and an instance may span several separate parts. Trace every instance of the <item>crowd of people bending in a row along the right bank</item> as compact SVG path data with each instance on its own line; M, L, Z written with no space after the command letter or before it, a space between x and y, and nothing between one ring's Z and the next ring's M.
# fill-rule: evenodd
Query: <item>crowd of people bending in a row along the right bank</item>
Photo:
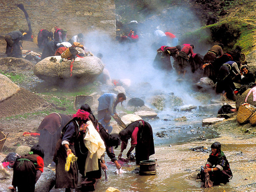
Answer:
M167 72L175 70L177 80L195 78L198 82L200 78L207 77L215 84L216 93L221 94L224 100L235 101L237 95L255 86L254 75L242 58L241 46L224 53L222 44L214 45L204 56L194 53L194 48L195 46L190 44L161 46L157 50L153 66ZM174 59L173 65L170 57Z

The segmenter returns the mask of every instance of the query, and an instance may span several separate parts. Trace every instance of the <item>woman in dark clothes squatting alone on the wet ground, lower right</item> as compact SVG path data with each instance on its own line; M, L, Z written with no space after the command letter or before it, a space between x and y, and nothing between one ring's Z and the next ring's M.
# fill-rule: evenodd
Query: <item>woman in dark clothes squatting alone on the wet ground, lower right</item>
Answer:
M232 172L225 154L221 151L221 143L211 144L211 154L205 166L201 167L201 180L205 182L204 187L227 183L232 178ZM213 184L212 184L213 183Z

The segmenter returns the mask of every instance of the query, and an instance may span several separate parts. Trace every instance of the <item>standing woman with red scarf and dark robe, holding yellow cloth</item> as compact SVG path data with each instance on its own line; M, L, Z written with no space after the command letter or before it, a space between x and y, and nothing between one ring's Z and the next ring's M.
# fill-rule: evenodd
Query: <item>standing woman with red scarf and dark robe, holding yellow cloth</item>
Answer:
M56 163L56 184L55 188L76 188L78 183L78 169L76 161L70 164L68 172L65 171L66 158L69 154L75 153L75 141L78 139L79 131L86 130L84 124L89 120L89 113L78 110L73 119L71 119L62 129L61 138L56 145L56 151L53 161Z

